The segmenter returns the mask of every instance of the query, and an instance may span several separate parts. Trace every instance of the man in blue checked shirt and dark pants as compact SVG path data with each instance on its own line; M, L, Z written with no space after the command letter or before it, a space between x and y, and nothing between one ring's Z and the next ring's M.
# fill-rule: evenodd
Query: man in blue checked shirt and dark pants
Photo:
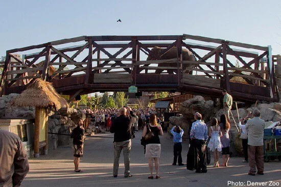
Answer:
M205 123L201 121L202 115L200 113L194 114L195 122L192 123L190 137L194 143L194 147L197 149L199 163L196 168L196 173L206 173L207 172L207 162L206 162L206 140L208 138L208 130Z

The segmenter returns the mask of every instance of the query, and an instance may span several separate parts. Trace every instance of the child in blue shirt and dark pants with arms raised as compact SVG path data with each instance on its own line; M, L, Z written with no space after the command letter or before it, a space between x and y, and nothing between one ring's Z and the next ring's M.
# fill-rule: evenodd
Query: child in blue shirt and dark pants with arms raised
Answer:
M183 130L180 128L180 126L174 126L171 129L171 133L174 136L174 162L173 165L176 166L177 165L177 158L178 158L178 165L179 166L183 166L182 164L182 158L181 158L181 150L182 150L182 146L181 146L181 142L182 142L182 135L183 135Z

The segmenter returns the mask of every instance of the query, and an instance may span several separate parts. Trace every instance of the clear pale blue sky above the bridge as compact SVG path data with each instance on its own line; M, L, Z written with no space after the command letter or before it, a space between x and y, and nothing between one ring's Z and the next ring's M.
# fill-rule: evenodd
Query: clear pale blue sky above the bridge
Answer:
M6 50L82 35L182 35L262 45L281 54L281 1L4 1ZM122 23L116 22L118 19Z

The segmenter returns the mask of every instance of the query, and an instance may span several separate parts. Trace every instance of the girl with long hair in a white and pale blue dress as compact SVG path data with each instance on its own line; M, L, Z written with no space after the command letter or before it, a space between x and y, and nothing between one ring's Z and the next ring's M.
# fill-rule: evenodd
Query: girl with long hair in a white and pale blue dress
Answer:
M220 137L222 136L222 132L218 125L217 118L213 118L211 120L211 126L209 127L209 137L210 141L208 144L208 148L214 153L214 167L219 167L219 152L222 150L222 143Z

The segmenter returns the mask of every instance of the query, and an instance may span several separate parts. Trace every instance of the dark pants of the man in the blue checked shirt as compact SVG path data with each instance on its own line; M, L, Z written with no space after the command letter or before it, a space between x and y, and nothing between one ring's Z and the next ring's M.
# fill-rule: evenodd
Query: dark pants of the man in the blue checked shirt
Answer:
M197 150L199 163L196 171L205 172L207 171L207 160L206 160L206 144L204 140L194 139L194 146Z

